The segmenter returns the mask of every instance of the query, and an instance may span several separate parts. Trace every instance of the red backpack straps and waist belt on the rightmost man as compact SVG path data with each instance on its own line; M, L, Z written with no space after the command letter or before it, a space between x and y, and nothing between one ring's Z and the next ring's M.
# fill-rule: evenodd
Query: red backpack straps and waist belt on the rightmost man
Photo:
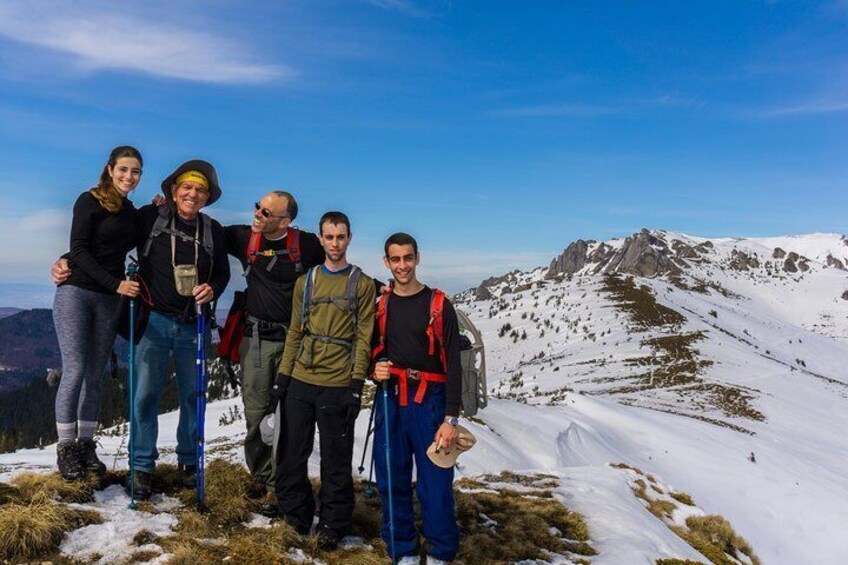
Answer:
M380 341L377 347L371 352L371 359L377 361L380 359L380 354L386 349L386 321L389 314L389 296L391 295L391 286L388 292L380 295L377 301L376 330L380 336ZM442 362L441 373L430 373L427 371L419 371L417 369L402 369L400 367L392 367L391 374L398 378L398 400L401 406L407 405L407 387L410 378L420 381L418 390L415 392L415 402L421 404L424 401L424 394L427 392L427 383L444 383L447 381L448 365L445 357L444 348L444 317L442 316L445 308L445 293L439 289L433 289L433 295L430 299L430 321L427 323L427 338L429 339L429 347L427 353L435 355L436 342L439 342L439 356Z

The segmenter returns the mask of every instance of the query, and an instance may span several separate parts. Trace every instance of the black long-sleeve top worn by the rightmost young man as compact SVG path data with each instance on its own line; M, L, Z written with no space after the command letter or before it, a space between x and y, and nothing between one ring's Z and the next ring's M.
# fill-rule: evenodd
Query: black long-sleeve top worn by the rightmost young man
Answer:
M385 356L396 367L417 369L428 373L442 373L439 346L434 355L429 354L430 340L427 326L430 322L430 300L433 291L425 286L412 296L389 295L386 320ZM462 398L462 364L459 359L459 323L456 311L449 300L445 299L444 310L445 360L447 362L447 383L445 387L445 413L459 416Z

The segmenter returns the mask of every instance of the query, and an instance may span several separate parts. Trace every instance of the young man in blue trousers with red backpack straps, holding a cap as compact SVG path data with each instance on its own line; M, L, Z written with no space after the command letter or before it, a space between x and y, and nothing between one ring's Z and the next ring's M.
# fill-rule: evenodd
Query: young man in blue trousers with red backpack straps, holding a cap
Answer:
M444 294L419 282L415 273L420 261L418 243L412 236L392 235L386 240L384 251L384 262L392 272L394 284L392 292L381 297L377 308L380 343L374 351L377 362L373 378L383 386L387 381L395 386L388 389L389 401L385 407L379 392L374 406L374 461L383 506L381 534L389 554L396 560L418 563L419 535L412 510L414 460L427 562L446 563L459 551L453 468L435 465L427 457L427 448L435 442L449 450L459 435L456 428L462 394L459 324ZM441 314L433 316L435 311ZM388 422L383 416L384 409ZM391 461L386 461L386 425ZM390 499L393 536L389 530Z

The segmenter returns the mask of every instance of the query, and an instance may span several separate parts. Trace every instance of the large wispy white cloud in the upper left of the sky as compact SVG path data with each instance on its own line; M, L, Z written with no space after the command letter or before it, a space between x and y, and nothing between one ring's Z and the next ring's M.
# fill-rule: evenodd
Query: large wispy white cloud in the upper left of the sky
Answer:
M192 14L156 19L118 6L4 0L0 35L70 55L88 72L134 71L208 83L263 83L295 75L290 68L254 61L223 30L188 25L195 22Z

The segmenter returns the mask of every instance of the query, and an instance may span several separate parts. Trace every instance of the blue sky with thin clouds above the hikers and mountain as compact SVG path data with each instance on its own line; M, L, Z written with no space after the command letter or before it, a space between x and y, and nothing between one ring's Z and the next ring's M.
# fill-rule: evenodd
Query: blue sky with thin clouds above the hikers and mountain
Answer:
M642 227L848 232L848 0L137 4L0 3L0 306L49 301L124 143L137 202L205 158L224 223L290 190L452 291Z

